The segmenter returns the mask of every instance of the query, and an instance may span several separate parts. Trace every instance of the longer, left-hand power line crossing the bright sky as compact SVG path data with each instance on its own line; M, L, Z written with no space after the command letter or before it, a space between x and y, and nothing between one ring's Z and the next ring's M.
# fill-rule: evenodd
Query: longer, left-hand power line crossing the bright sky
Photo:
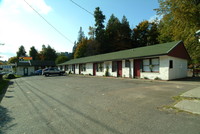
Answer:
M73 44L73 42L65 36L62 32L60 32L56 27L54 27L50 22L48 22L36 9L34 9L26 0L24 2L31 8L33 11L35 11L47 24L49 24L56 32L58 32L62 37L64 37L66 40L68 40L70 43Z

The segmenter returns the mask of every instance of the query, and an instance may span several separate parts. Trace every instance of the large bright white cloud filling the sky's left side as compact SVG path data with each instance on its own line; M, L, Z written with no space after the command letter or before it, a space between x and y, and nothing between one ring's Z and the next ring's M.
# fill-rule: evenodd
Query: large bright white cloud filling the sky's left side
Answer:
M52 10L44 0L26 1L41 14L48 14ZM46 35L40 35L38 28L30 26L27 20L29 16L32 16L33 22L37 21L34 18L37 15L24 0L4 0L0 4L0 43L5 43L0 46L0 56L3 56L0 60L15 56L20 45L25 46L28 54L31 46L40 49L41 42L48 42Z

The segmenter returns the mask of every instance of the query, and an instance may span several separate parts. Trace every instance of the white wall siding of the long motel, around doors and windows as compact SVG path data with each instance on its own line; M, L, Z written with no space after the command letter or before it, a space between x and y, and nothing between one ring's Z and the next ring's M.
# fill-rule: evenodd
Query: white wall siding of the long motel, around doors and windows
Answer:
M152 57L149 57L152 58ZM187 60L181 58L175 58L171 56L159 56L159 71L158 72L142 72L140 70L140 78L142 79L161 79L161 80L172 80L178 78L187 77ZM130 67L125 67L126 60L122 61L122 77L134 78L134 59L127 59L130 61ZM143 59L141 59L143 60ZM170 60L173 60L173 68L169 67ZM118 60L120 61L120 60ZM86 71L81 71L83 75L93 75L93 64L86 63ZM75 65L75 74L79 74L80 64ZM105 76L106 70L108 69L109 76L117 77L117 71L112 72L112 61L103 62L103 71L97 72L96 76ZM72 65L68 65L67 73L72 72Z

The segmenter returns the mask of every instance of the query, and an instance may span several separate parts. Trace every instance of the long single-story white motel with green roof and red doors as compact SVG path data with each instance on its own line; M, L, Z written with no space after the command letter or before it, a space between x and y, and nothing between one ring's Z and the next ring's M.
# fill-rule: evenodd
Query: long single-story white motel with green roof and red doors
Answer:
M182 41L72 59L58 67L74 74L172 80L187 77Z

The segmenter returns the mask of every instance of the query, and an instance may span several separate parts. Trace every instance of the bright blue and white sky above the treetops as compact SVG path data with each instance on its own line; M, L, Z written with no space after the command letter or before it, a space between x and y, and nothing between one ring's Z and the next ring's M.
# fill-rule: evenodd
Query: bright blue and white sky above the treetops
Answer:
M48 22L62 32L69 40L58 34L24 0L0 0L0 55L7 60L16 55L20 45L27 53L31 46L41 50L42 44L51 45L57 52L71 52L73 42L77 40L80 27L87 36L88 27L94 26L94 17L79 8L71 0L26 0ZM125 15L134 28L143 20L155 17L158 0L73 0L90 12L100 7L106 16L111 14L120 20Z

